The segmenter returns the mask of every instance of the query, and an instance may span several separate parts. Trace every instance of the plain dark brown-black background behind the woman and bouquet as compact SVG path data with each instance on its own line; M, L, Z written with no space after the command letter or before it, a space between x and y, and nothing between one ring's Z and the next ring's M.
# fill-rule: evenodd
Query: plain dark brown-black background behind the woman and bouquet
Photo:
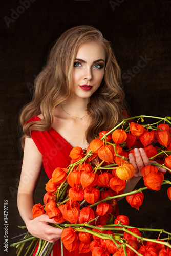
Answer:
M32 82L45 64L52 42L72 26L95 26L112 42L132 115L170 116L171 1L8 0L1 5L0 247L3 248L4 200L8 200L9 245L14 235L24 232L17 228L24 224L16 204L22 165L18 112L31 99ZM170 175L166 174L165 178L170 179ZM35 193L36 203L42 203L47 180L42 172ZM142 186L140 181L137 188ZM120 214L127 215L132 226L171 231L167 188L165 185L160 191L146 190L139 211L131 208L125 199L121 200ZM153 238L156 234L145 232L144 236ZM15 248L2 253L7 254L15 255Z

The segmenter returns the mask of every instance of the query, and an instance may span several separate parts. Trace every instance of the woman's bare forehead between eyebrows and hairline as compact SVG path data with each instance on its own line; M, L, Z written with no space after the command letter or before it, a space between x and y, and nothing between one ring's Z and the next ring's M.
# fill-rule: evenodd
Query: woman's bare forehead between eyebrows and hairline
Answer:
M100 42L90 41L79 47L76 58L90 61L96 59L105 60L105 51Z

